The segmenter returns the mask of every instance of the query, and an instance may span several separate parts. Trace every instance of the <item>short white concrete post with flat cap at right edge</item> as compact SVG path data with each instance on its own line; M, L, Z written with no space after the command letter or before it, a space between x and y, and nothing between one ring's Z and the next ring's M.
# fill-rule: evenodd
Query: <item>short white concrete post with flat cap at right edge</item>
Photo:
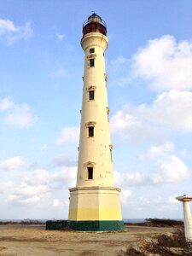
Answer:
M189 247L192 247L192 217L190 212L189 201L192 201L192 196L177 196L178 201L183 202L183 218L184 218L184 235Z

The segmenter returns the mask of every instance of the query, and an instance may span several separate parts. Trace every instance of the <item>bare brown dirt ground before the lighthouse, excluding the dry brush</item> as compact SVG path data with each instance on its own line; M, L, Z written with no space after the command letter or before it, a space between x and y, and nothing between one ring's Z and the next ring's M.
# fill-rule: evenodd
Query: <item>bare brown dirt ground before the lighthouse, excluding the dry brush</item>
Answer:
M173 228L128 226L120 232L75 232L44 230L40 225L1 225L0 256L113 256L126 247Z

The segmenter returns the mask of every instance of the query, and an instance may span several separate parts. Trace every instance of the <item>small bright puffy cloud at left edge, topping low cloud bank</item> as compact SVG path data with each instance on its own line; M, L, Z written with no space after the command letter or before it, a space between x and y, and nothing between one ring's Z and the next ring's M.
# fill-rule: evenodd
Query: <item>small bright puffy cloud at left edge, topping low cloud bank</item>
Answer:
M15 156L8 160L0 162L0 170L3 171L20 171L26 168L27 164L22 156Z

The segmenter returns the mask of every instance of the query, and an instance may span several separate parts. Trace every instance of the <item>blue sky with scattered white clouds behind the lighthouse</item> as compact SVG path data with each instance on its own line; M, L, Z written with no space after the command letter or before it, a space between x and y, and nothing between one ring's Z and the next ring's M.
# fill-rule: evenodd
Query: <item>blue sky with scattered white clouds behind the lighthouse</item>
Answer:
M192 194L192 2L0 0L0 219L67 218L82 24L108 26L113 172L123 218L183 218Z

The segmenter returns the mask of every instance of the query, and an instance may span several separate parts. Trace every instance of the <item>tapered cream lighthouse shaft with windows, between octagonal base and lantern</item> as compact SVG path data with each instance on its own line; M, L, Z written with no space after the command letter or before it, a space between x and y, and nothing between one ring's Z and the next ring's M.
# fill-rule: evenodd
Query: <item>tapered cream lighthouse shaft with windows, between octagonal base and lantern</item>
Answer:
M77 186L113 186L104 60L108 38L100 32L91 32L82 38L81 45L84 49L84 92Z

